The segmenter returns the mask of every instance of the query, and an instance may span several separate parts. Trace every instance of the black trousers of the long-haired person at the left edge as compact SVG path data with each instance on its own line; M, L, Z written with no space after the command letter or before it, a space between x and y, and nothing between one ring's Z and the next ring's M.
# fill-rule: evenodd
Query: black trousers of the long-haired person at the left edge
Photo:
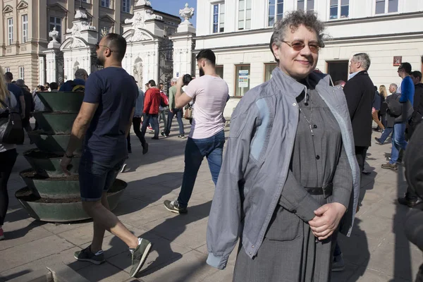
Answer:
M4 223L4 218L8 208L8 192L7 183L11 176L12 168L15 165L18 153L16 149L10 149L5 152L0 152L0 226Z

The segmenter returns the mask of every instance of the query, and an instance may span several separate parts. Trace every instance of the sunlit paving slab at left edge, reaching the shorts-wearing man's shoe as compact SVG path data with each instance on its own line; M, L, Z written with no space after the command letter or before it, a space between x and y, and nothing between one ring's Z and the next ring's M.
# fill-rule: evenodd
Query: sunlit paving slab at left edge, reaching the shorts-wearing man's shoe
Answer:
M66 240L57 237L57 235L51 235L23 245L10 247L0 251L0 272L57 254L71 247L74 246Z

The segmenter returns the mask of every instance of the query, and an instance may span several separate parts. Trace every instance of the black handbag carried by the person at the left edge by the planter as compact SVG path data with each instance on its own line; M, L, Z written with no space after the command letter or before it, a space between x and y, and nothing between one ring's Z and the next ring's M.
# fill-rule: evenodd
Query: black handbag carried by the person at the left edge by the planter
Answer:
M1 100L0 103L6 108L0 114L0 143L23 144L25 135L23 134L22 119L19 111L6 105Z

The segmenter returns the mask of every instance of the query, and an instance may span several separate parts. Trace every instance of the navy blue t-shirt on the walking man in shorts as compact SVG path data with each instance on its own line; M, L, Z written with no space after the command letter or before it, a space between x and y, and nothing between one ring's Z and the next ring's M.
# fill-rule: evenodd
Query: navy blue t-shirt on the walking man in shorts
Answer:
M125 130L137 94L135 80L123 68L104 68L88 77L84 102L99 106L85 135L87 159L107 165L128 155Z

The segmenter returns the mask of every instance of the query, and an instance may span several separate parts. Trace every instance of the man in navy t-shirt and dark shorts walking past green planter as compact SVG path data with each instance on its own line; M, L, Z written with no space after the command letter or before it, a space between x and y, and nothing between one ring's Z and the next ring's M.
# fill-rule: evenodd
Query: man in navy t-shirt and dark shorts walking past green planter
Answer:
M78 173L82 207L94 221L94 236L90 246L75 252L75 259L94 264L104 262L102 243L107 230L130 248L133 277L147 259L152 244L125 228L110 212L106 197L128 156L126 136L138 94L135 81L122 68L125 51L125 39L115 33L109 33L97 44L97 59L104 69L92 73L85 82L84 101L73 123L61 167L68 173L73 153L85 137Z

